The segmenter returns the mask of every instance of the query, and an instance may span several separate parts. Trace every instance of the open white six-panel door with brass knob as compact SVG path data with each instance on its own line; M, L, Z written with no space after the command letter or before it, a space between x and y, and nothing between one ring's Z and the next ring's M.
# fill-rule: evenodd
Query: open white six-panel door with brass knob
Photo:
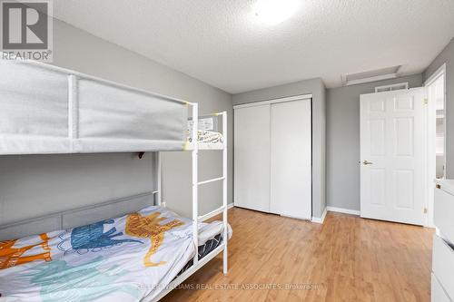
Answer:
M360 215L424 222L422 88L360 96Z

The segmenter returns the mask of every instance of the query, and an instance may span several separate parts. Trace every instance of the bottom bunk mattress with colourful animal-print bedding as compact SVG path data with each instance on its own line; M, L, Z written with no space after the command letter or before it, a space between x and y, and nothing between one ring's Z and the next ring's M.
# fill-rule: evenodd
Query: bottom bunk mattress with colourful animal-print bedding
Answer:
M222 250L223 225L198 227L200 263ZM0 300L153 301L197 269L194 253L192 220L159 206L0 241Z

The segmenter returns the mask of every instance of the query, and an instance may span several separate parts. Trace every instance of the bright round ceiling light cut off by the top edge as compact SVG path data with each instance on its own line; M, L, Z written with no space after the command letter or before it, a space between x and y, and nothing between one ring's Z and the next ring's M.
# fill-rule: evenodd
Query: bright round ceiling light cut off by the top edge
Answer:
M294 15L300 4L299 0L258 0L253 11L262 23L276 25Z

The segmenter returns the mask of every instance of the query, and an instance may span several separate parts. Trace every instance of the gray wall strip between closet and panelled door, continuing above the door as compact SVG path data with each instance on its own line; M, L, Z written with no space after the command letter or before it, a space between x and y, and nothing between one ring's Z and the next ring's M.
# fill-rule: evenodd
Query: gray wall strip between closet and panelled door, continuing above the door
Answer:
M327 91L327 201L328 206L360 210L360 94L376 86L409 82L422 84L422 75L363 83Z

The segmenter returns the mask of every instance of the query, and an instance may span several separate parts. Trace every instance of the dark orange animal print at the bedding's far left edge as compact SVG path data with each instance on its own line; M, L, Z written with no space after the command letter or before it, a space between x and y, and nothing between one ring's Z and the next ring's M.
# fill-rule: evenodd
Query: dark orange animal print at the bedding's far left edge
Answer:
M40 242L32 245L15 248L18 239L6 240L0 242L0 269L15 267L29 263L35 260L51 260L51 252L49 248L49 238L47 234L40 234ZM37 253L31 251L37 249ZM41 251L41 252L39 252ZM24 254L27 254L24 256Z

